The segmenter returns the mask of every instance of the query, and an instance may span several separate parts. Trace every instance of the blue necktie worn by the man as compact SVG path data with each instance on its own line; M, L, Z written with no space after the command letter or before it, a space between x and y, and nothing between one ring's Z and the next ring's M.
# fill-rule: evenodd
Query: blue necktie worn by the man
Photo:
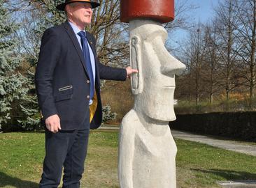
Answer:
M87 69L87 72L90 78L90 100L92 100L92 97L94 96L94 79L93 79L93 73L92 73L92 64L91 64L89 47L87 44L87 38L86 38L85 32L80 31L78 33L78 36L80 36L81 38L81 44L83 47L83 56L85 58L85 67Z

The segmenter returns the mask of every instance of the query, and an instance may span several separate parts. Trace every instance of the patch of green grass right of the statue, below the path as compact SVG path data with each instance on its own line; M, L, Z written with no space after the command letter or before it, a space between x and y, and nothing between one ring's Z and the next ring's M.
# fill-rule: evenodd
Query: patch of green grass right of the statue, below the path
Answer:
M214 187L221 180L256 180L256 157L176 140L180 187Z

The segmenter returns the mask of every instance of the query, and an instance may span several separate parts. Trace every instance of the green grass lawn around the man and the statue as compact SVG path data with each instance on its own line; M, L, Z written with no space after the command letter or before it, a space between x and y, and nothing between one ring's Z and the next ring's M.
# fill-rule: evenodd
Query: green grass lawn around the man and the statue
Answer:
M256 157L176 139L178 187L218 187L220 180L256 180ZM38 187L44 134L0 134L0 187ZM118 132L91 132L81 187L119 187ZM160 188L160 187L156 187Z

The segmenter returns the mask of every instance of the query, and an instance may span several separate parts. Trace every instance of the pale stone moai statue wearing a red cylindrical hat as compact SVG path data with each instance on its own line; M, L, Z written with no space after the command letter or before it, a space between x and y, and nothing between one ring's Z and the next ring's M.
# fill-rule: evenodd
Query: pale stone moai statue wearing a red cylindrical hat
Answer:
M164 3L166 2L166 3ZM167 7L166 7L167 6ZM134 107L120 127L118 178L121 188L176 188L175 75L185 65L164 47L163 22L173 19L173 0L123 0L121 20L129 22Z

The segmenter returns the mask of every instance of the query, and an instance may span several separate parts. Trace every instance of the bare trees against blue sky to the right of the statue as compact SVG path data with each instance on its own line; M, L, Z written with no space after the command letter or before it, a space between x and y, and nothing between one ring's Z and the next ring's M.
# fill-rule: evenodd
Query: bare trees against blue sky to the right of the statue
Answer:
M187 69L177 77L176 97L196 111L206 101L211 107L236 100L249 104L244 110L255 110L255 45L256 1L220 1L213 19L194 24L180 46Z

